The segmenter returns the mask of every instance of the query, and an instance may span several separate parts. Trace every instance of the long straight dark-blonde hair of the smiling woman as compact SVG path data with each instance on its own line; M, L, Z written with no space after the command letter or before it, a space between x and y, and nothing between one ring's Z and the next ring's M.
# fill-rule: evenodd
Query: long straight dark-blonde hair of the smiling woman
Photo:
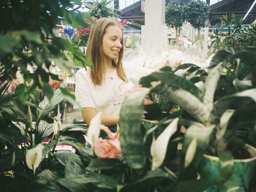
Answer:
M103 64L103 52L102 52L102 39L106 29L109 26L121 26L112 18L100 18L94 24L89 35L86 56L91 60L94 66L91 68L91 80L94 85L102 85L103 75L105 74L105 67ZM122 30L122 28L121 28ZM118 60L112 61L112 65L116 67L116 72L121 80L127 82L127 77L124 74L123 65L121 63L124 55L123 41L121 42L121 50L118 53Z

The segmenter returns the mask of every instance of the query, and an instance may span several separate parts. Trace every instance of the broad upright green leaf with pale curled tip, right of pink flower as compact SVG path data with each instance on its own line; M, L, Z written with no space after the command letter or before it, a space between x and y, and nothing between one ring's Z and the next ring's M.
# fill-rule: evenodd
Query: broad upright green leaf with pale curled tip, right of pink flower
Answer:
M143 146L141 119L143 99L148 91L130 93L121 107L120 133L124 161L132 169L141 169L146 163L146 148Z

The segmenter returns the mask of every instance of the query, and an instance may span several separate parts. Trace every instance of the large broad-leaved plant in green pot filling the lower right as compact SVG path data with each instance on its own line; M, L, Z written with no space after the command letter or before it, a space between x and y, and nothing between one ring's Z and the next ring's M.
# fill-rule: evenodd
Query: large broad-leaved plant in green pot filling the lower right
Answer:
M176 76L170 69L162 69L161 72L154 72L140 80L140 84L146 87L152 81L160 81L161 84L152 88L151 92L162 94L187 112L184 123L189 128L184 137L180 177L191 180L199 175L200 180L215 180L215 185L211 183L213 186L207 191L227 191L231 188L246 190L254 174L255 148L245 145L248 140L230 140L226 130L230 118L241 109L241 106L234 107L231 104L249 98L249 104L255 105L256 89L245 88L229 95L214 95L222 70L230 64L228 61L237 58L248 60L246 55L255 57L255 53L250 50L229 55L229 60L222 53L217 53L211 61L212 69L208 72L203 90L184 77ZM248 107L246 112L252 113L252 109ZM253 130L255 119L252 117L248 120L252 123L250 129ZM241 152L245 155L241 155ZM209 157L210 154L213 156ZM238 154L239 160L235 159ZM213 166L206 171L204 165Z

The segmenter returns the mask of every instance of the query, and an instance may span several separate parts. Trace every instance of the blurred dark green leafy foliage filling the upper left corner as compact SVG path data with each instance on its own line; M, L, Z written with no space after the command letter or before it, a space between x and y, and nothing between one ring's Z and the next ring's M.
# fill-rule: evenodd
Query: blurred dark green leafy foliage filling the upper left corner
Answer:
M74 4L67 0L55 1L1 1L1 43L0 43L0 81L15 79L20 71L26 86L31 82L28 92L35 93L35 88L42 88L45 94L52 95L48 85L49 77L58 79L48 71L51 64L61 69L67 67L70 53L76 65L89 64L89 60L78 47L72 47L66 39L56 37L56 24L64 18L73 26L87 26L83 22L88 15L78 14L72 10ZM30 9L29 14L26 14ZM40 10L40 11L38 11ZM29 52L23 52L23 47L29 47ZM34 68L31 73L27 69ZM33 81L31 81L33 80Z

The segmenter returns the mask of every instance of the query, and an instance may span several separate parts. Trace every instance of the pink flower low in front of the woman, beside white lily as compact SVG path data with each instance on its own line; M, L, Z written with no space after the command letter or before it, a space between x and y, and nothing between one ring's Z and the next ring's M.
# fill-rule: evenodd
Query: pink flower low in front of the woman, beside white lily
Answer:
M108 134L110 139L97 139L97 142L94 145L95 155L97 155L99 158L118 158L118 155L121 154L119 131L112 133L106 126L102 126L102 130Z

